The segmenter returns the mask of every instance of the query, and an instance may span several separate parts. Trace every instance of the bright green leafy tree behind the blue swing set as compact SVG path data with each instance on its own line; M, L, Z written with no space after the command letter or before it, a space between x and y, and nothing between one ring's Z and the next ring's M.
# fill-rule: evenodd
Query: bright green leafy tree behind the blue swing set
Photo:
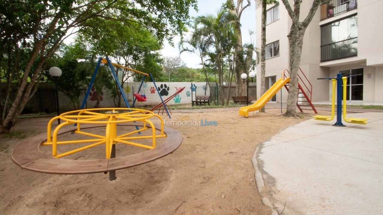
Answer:
M102 21L102 20L101 20ZM89 52L110 57L113 62L142 72L150 71L157 80L162 68L159 50L162 48L159 40L147 29L138 23L125 25L121 22L106 20L102 31L91 34L92 27L85 27L77 37L77 43L82 44ZM122 88L129 78L141 81L142 75L121 67L115 67L118 81ZM149 79L149 78L148 78ZM114 80L114 79L113 79ZM148 80L147 80L148 81ZM121 107L122 95L115 85L111 90L116 107Z

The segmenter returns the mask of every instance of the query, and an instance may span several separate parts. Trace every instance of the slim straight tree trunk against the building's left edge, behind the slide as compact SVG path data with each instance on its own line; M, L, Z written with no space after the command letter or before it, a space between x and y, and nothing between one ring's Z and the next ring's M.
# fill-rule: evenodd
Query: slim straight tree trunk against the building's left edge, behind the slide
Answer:
M260 96L265 93L265 74L266 74L266 6L267 0L262 0L262 18L261 18L261 87ZM266 112L263 106L260 110Z

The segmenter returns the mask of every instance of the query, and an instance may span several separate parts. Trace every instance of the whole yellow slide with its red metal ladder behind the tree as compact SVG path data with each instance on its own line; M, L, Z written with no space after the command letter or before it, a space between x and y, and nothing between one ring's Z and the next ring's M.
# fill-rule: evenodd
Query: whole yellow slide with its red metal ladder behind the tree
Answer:
M297 102L296 106L298 107L298 109L301 112L303 112L303 110L313 110L316 114L318 114L318 112L314 108L313 103L311 103L311 95L313 94L313 86L311 85L311 83L308 80L308 78L306 77L306 75L304 75L304 73L301 70L301 68L299 68L299 71L302 73L302 75L303 75L303 77L305 78L306 81L304 81L304 79L302 79L300 77L300 75L298 74L298 98L306 98L305 102L307 102L308 104L307 105L298 104L298 102ZM273 84L273 86L271 86L254 104L251 104L249 106L245 106L245 107L242 107L242 108L239 109L239 116L249 117L249 112L250 111L256 111L256 110L261 109L263 106L265 106L265 104L268 101L270 101L270 99L283 86L285 86L286 90L289 91L288 86L289 86L289 83L290 83L290 77L287 77L285 72L290 74L290 72L285 69L282 72L282 78L278 79ZM305 89L302 87L301 83L303 84L303 86L305 86ZM306 85L306 83L308 83L307 84L308 86ZM306 93L306 91L307 91L307 93ZM300 94L303 94L303 96L300 96ZM301 106L310 106L311 109L303 109ZM260 111L259 111L259 114L260 114Z

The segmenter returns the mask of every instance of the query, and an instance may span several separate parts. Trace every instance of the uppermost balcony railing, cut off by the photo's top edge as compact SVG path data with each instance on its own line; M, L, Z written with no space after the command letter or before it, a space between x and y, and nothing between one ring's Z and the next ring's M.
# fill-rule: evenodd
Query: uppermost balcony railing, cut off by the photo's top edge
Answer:
M321 21L357 8L357 0L330 0L321 4Z

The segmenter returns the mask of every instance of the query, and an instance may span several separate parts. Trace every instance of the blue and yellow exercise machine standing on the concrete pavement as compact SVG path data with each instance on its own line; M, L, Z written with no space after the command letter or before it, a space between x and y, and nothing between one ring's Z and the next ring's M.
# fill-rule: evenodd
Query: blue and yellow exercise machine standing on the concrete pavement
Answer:
M342 95L343 95L343 119L346 122L349 123L356 123L356 124L367 124L368 119L361 119L361 118L346 118L346 94L347 94L347 78L360 76L362 74L358 75L351 75L348 74L342 74L338 73L336 78L318 78L318 79L331 79L332 80L332 106L331 106L331 117L330 116L313 116L316 120L324 120L324 121L331 121L334 119L334 110L335 110L335 83L337 85L337 121L334 124L334 126L337 127L345 127L345 125L342 123ZM342 81L340 81L342 80ZM342 87L343 83L343 87ZM343 93L342 93L343 92Z

